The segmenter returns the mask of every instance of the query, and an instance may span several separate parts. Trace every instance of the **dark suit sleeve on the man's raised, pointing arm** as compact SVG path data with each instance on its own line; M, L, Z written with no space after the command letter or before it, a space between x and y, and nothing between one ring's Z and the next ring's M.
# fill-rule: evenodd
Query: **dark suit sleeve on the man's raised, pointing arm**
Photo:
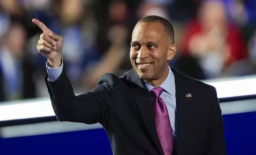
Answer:
M108 83L102 82L91 91L76 96L65 67L58 80L54 82L48 80L46 72L45 82L54 113L59 121L86 124L104 124L107 121L109 115L107 102L111 100L111 85Z

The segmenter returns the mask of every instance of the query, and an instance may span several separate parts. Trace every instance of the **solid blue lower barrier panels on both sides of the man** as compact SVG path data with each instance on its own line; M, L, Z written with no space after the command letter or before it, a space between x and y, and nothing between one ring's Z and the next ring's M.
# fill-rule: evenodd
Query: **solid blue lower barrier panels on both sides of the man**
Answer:
M256 112L223 115L228 155L256 155ZM112 155L104 129L0 139L0 155Z

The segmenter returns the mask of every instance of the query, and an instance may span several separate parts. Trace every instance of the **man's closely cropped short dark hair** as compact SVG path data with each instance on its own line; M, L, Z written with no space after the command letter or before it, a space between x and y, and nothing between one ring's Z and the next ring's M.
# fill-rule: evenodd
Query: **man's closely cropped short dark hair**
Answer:
M157 15L149 15L146 16L142 19L140 19L138 23L155 23L155 22L159 22L161 23L161 25L163 25L164 27L164 31L165 33L170 37L170 39L172 40L172 42L174 43L174 29L173 29L173 25L165 18L157 16Z

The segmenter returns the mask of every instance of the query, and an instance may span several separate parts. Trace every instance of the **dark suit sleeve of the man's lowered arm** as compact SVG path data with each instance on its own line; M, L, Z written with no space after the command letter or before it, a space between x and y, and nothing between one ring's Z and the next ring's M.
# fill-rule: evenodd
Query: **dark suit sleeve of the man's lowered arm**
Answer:
M209 129L210 148L208 155L227 155L221 108L216 89L214 87L213 89Z

